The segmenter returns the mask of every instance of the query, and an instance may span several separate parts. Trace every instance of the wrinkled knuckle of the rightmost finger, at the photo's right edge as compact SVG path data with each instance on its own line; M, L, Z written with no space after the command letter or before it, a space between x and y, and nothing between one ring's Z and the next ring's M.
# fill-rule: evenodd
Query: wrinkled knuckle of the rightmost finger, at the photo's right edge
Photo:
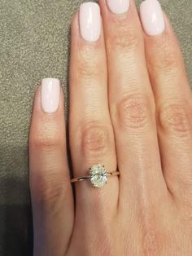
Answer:
M164 131L185 137L191 130L190 114L185 104L165 104L159 108L159 123Z

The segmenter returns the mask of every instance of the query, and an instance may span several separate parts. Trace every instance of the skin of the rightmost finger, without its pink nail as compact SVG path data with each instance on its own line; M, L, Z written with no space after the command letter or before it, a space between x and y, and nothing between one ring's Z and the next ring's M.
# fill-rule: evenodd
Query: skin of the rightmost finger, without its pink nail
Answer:
M144 33L146 61L155 94L164 177L173 198L191 205L192 94L177 37L164 14L165 30Z

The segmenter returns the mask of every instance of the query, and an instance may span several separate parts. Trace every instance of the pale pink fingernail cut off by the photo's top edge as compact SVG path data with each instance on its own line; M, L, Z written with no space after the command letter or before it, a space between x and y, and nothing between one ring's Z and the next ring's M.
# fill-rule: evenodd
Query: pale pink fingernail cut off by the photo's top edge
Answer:
M129 0L107 0L109 9L116 13L124 13L129 10Z

